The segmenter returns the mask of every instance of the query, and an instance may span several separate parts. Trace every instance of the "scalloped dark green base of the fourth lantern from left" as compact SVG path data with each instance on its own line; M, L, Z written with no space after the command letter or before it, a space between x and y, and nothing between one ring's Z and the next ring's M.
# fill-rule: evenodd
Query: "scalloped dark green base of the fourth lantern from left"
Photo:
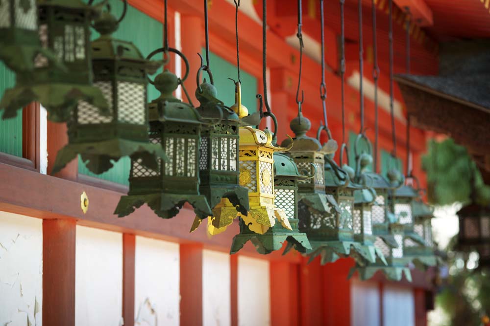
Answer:
M182 197L185 197L185 199L182 199ZM186 202L194 207L194 212L196 212L196 214L211 215L211 209L209 208L205 196L183 196L182 194L167 193L122 196L114 214L117 214L118 217L127 216L146 203L157 216L162 218L172 218L179 213Z

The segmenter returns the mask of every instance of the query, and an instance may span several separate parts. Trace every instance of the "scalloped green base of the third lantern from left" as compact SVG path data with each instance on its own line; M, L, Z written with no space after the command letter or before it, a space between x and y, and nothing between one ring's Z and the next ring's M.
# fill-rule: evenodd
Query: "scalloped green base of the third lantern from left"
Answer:
M68 144L56 155L51 174L61 171L78 154L92 173L101 174L113 167L113 161L123 156L141 159L141 164L152 170L158 170L158 158L167 160L167 155L160 144L141 141L111 139L100 142Z

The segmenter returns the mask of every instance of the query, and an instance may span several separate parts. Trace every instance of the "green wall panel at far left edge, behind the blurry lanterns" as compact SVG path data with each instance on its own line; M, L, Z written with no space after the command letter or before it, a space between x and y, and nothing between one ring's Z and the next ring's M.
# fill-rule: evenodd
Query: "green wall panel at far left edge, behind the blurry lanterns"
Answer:
M15 74L0 63L0 99L5 89L15 85ZM22 157L22 111L12 119L0 118L0 152Z

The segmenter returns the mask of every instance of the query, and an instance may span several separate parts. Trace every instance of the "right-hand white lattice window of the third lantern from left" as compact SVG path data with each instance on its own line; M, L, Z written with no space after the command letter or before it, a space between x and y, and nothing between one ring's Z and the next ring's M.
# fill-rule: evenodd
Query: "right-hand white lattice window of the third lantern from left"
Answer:
M146 122L146 87L140 83L118 82L118 121L133 125Z

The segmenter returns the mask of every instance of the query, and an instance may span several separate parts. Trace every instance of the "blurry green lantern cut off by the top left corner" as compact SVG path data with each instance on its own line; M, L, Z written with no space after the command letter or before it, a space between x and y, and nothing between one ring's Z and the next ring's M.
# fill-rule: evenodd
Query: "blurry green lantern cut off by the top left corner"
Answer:
M55 60L41 46L35 0L0 1L0 61L17 73L32 73L38 54Z

